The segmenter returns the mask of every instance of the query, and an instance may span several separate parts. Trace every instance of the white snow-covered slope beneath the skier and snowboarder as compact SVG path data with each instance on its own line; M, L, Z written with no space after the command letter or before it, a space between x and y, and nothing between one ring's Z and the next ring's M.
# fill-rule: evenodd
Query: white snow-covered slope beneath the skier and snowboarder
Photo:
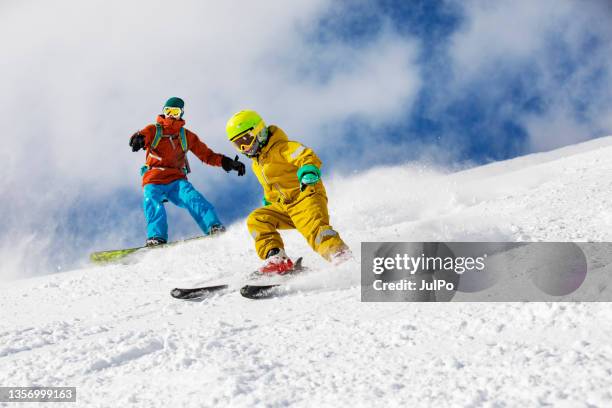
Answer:
M333 225L361 241L612 241L612 137L444 174L327 180ZM361 303L359 265L294 293L177 301L259 265L243 223L128 265L0 286L0 384L76 386L76 406L612 406L606 303ZM0 404L2 405L2 404ZM5 404L6 405L6 404ZM73 405L71 405L73 406Z

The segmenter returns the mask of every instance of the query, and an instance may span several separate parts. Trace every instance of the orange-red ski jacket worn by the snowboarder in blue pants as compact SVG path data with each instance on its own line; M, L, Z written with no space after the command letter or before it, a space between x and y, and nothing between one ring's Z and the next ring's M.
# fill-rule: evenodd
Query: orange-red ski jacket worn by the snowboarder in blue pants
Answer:
M179 137L179 131L185 125L185 121L159 115L157 123L162 125L164 137L161 138L155 148L151 146L155 138L155 125L149 125L140 131L145 137L145 150L147 152L145 164L149 167L142 176L143 186L147 184L168 184L175 180L187 178L187 174L183 170L187 166L187 152L183 151ZM185 135L188 149L203 163L211 166L221 166L222 154L209 149L192 131L185 129Z

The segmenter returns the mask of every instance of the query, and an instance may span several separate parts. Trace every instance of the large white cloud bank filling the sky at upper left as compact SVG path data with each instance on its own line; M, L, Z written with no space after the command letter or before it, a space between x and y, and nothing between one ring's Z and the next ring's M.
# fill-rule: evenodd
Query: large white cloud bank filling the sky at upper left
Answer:
M323 137L332 144L333 132L320 129L352 115L372 123L398 115L420 86L415 44L390 29L367 45L309 42L305 34L330 4L4 4L0 109L10 133L0 153L0 192L32 205L10 237L0 232L0 247L19 240L20 229L30 245L31 229L79 192L137 190L143 154L133 154L127 140L169 96L186 100L187 126L225 154L234 153L225 121L245 107L313 144ZM211 174L205 193L227 182L221 172L202 174Z

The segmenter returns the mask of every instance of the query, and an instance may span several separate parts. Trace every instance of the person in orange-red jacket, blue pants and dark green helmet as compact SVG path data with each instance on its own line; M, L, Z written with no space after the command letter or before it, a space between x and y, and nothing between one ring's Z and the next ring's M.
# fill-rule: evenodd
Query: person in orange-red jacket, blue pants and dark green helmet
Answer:
M238 160L238 156L232 160L213 152L195 133L185 129L184 107L185 102L181 98L168 99L156 123L130 137L133 152L146 150L146 162L141 169L147 221L146 246L168 242L168 221L164 208L167 201L187 209L205 235L225 231L214 207L187 181L190 172L187 151L191 151L203 163L221 166L226 172L233 170L239 176L245 173L244 164Z

